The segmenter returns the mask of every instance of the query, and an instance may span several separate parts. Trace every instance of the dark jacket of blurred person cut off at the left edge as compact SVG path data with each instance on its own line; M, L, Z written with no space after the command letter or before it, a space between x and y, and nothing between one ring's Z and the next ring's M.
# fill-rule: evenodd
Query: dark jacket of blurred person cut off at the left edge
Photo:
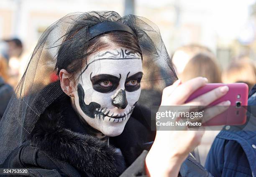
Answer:
M5 83L3 78L0 76L0 121L12 95L13 88L9 84Z

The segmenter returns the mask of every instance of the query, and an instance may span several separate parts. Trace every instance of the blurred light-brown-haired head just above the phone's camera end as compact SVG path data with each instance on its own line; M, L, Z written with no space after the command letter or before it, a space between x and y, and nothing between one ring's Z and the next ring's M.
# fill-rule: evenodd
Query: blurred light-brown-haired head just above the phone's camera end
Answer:
M223 71L222 80L224 83L247 83L250 90L256 83L256 68L250 60L233 61Z

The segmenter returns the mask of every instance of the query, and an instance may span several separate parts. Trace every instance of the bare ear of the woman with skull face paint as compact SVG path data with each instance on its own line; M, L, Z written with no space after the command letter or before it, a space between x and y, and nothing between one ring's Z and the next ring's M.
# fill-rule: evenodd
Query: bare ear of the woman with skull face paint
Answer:
M68 73L65 69L59 71L59 79L61 84L61 89L65 94L70 96L74 91L74 82L71 79L71 74Z

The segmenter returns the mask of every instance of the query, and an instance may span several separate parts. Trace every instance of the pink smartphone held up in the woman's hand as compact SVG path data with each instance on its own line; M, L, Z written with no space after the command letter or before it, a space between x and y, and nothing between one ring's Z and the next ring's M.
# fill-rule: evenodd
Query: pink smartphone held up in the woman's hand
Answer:
M210 106L217 105L220 102L227 100L231 102L231 105L223 113L205 122L203 126L244 124L246 122L246 108L248 101L248 85L246 83L207 83L190 95L186 103L220 86L228 86L228 93L220 99L213 101Z

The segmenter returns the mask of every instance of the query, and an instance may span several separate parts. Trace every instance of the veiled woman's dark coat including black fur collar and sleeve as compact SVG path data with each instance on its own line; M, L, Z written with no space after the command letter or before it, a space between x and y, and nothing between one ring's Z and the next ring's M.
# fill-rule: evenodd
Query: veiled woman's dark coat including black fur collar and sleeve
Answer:
M148 142L154 140L155 132L145 125L147 121L143 124L142 119L134 117L141 115L141 109L134 109L123 133L110 137L108 146L88 134L72 109L69 97L62 94L41 114L31 136L10 154L3 168L28 168L26 175L31 177L146 176L145 158L151 145ZM193 177L196 174L211 176L189 157L182 164L180 175Z

